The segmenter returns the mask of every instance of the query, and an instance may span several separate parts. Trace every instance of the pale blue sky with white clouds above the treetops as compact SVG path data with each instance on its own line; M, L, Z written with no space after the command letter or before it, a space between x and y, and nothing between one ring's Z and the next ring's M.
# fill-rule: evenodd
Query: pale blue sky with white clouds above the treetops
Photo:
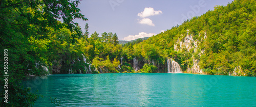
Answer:
M216 5L226 6L232 0L83 0L81 13L88 21L76 19L82 30L89 24L90 35L95 31L112 32L119 40L133 40L159 34L185 19L201 16Z

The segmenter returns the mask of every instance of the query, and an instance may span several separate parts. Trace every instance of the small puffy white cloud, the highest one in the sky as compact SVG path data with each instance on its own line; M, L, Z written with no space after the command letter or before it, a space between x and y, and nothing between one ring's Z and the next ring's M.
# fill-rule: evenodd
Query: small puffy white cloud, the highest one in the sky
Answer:
M155 11L154 8L145 8L143 12L138 13L141 18L162 14L162 11Z

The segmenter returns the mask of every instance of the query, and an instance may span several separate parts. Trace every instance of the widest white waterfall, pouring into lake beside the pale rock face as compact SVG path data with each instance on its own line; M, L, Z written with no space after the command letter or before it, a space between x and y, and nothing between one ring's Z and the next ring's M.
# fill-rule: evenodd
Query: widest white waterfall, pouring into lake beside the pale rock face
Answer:
M168 73L182 73L180 65L173 59L167 59Z

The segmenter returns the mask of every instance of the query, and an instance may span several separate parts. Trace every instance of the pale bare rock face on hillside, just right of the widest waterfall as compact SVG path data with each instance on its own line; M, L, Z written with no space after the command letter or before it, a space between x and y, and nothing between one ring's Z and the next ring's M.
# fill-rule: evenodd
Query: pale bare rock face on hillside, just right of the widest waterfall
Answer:
M206 33L204 33L204 37L201 38L201 41L199 41L198 39L194 40L193 35L188 35L188 34L189 34L189 30L187 30L186 37L184 37L183 39L178 38L176 44L174 44L175 51L190 52L192 49L192 51L196 52L199 50L198 44L207 39ZM200 37L200 34L199 34L199 37ZM204 54L204 49L201 49L200 52L198 53L198 55L201 56L203 54ZM194 56L193 56L193 66L187 67L186 72L203 74L203 70L200 69L200 66L199 66L199 60L195 59Z

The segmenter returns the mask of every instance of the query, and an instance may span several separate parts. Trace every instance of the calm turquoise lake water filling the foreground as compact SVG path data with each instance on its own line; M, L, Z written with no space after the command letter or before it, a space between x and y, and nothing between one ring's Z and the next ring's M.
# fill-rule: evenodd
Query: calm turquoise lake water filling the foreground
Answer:
M56 106L50 97L61 101L60 106L256 106L256 77L61 74L29 79L25 84L44 96L34 106Z

